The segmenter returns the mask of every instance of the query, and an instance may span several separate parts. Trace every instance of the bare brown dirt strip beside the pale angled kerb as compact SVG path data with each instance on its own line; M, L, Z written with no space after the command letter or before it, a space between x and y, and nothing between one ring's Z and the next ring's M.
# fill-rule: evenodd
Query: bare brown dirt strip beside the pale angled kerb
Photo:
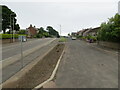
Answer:
M4 86L4 88L34 88L47 80L54 70L56 63L62 54L65 44L56 45L42 60L40 60L29 72L16 82Z

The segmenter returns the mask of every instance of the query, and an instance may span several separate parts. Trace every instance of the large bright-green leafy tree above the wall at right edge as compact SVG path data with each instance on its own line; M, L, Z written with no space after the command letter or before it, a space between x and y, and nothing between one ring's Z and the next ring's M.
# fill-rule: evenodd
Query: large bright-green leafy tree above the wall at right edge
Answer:
M116 14L108 22L101 24L98 39L103 41L119 42L120 38L120 15Z

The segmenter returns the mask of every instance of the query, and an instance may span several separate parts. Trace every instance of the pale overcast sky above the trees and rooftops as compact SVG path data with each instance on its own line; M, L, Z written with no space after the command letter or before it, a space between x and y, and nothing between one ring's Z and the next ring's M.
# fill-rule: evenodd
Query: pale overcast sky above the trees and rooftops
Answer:
M33 2L34 1L34 2ZM30 24L37 28L52 26L62 35L84 28L98 27L118 12L119 0L4 0L17 14L17 23L25 29Z

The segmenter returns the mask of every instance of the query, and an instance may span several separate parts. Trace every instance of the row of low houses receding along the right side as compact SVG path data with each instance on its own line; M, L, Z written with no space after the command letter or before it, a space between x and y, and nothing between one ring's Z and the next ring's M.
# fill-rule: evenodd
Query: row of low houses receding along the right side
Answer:
M78 31L76 34L79 36L96 36L98 33L98 30L100 29L100 27L96 27L96 28L87 28L87 29L83 29Z

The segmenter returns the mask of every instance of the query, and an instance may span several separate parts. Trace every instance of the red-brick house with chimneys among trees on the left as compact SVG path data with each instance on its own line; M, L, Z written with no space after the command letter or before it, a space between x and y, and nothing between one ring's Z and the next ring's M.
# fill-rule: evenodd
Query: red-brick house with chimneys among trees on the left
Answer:
M30 38L33 38L38 33L38 29L35 26L33 27L32 24L30 24L30 26L26 30L28 37Z

